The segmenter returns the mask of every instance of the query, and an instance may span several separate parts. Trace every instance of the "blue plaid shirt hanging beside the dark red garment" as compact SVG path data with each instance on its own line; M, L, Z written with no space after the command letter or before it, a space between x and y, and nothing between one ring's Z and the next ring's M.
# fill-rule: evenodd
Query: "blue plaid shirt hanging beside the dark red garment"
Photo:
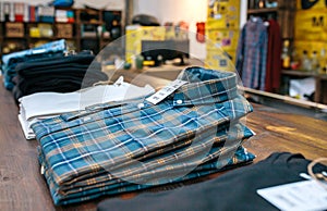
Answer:
M244 25L237 50L237 70L243 86L265 90L267 62L267 26L259 17Z

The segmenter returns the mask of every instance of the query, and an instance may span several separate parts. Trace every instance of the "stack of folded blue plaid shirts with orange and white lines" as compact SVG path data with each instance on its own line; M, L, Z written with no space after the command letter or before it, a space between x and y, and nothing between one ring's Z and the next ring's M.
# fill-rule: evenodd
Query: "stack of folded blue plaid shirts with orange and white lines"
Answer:
M185 69L185 82L149 98L102 103L32 125L55 204L184 182L252 162L242 124L252 111L237 75Z

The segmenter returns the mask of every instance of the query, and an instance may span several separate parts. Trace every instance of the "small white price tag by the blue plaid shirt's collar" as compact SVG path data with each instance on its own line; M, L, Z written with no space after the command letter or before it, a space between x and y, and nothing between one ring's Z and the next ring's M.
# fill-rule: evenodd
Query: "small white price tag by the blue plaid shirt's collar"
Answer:
M187 82L185 80L175 79L169 85L158 90L157 92L155 92L154 95L152 95L150 97L146 98L146 100L152 102L153 104L157 104L186 83Z

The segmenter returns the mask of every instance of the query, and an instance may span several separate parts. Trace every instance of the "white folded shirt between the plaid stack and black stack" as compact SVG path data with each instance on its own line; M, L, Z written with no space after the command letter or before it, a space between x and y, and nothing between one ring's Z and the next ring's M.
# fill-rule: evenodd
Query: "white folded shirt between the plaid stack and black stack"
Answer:
M123 82L121 76L113 85L99 85L66 94L32 94L19 99L19 120L26 139L33 139L35 134L31 125L36 121L84 110L94 104L137 99L154 92L152 86L138 87Z

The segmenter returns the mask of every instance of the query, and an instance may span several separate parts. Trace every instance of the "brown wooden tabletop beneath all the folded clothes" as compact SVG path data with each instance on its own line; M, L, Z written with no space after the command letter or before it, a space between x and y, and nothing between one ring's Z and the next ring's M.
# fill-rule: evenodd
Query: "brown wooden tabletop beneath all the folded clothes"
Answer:
M152 76L138 78L123 73L138 86L148 83L161 87L168 83ZM136 77L135 77L136 76ZM134 79L133 79L134 78ZM2 79L2 78L1 78ZM327 122L283 113L253 104L246 125L256 135L244 146L255 153L255 162L276 151L302 153L308 159L327 157ZM37 141L24 138L17 120L19 109L12 94L0 86L0 210L95 210L102 197L80 204L55 207L37 161ZM128 196L128 195L126 195Z

